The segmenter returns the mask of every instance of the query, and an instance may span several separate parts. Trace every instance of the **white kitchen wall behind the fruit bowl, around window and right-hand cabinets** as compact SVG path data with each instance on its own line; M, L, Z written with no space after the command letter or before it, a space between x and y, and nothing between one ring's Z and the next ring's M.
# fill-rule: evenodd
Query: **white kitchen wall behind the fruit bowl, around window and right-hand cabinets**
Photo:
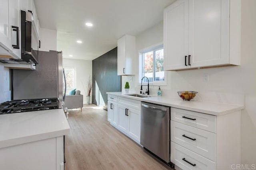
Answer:
M241 65L200 70L168 72L167 86L161 86L163 96L172 91L196 90L198 92L243 93L245 109L241 111L241 160L243 164L256 164L256 1L242 1L241 23ZM136 36L136 51L163 41L163 23ZM138 68L138 59L135 66ZM138 72L138 70L136 70ZM203 74L209 74L209 81L203 81ZM139 92L138 74L122 76L124 82ZM151 94L156 94L157 87L151 86ZM176 94L175 94L176 95ZM177 97L178 95L176 95ZM234 99L236 100L236 99ZM240 99L238 99L240 100ZM232 121L232 120L230 120ZM240 125L238 125L240 126Z

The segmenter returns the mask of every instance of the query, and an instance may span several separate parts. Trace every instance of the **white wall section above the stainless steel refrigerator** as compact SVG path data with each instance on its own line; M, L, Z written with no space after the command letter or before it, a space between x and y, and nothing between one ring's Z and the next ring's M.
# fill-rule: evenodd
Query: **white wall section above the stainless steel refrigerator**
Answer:
M52 29L40 29L40 51L57 51L57 31Z

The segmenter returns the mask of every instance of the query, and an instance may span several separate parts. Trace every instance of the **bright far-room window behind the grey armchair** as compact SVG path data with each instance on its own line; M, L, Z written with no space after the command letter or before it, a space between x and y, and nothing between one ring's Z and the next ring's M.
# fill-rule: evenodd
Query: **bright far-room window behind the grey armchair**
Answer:
M67 81L67 89L76 88L76 68L64 68Z

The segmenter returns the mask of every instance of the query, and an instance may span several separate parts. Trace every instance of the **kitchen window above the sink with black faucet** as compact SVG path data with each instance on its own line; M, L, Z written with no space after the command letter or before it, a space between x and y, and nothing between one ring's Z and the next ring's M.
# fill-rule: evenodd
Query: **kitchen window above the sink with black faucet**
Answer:
M142 56L142 74L141 78L148 77L149 82L164 82L164 49L163 45L150 48L141 52ZM143 82L148 82L143 79Z

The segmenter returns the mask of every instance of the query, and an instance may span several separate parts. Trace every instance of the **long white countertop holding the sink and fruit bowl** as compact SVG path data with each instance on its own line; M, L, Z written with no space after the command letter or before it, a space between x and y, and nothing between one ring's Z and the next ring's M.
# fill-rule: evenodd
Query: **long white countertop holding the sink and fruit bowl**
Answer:
M122 92L107 92L107 94L112 94L115 96L121 96L121 97L130 98L134 100L140 100L144 102L176 107L179 109L197 111L197 112L206 113L210 115L217 115L217 116L244 109L244 106L240 106L240 105L215 103L215 102L201 102L201 101L193 101L193 100L183 101L180 98L175 98L175 97L172 98L172 97L166 97L166 96L152 96L148 98L139 98L139 97L123 94ZM134 94L134 93L129 93L129 94Z

